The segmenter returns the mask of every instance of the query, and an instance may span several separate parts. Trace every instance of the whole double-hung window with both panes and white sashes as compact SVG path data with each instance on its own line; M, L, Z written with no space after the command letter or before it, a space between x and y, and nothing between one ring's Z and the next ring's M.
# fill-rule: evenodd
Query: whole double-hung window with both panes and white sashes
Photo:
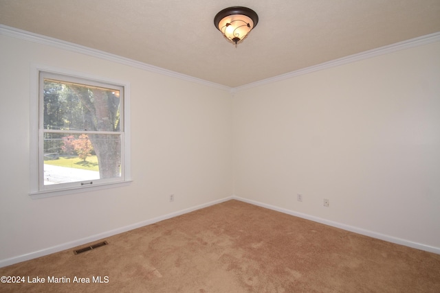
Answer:
M54 196L129 181L125 87L39 71L31 194Z

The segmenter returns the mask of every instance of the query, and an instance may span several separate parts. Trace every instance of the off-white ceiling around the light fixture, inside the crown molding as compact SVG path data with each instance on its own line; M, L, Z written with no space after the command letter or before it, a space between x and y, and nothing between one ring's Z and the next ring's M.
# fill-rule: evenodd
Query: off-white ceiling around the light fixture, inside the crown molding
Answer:
M237 48L235 5L259 14ZM440 32L440 0L0 0L0 23L236 87Z

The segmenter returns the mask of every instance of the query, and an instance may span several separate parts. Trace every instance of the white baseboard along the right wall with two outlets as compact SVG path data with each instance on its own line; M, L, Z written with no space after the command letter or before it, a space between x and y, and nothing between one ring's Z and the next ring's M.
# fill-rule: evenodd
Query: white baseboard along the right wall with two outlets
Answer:
M416 248L416 249L419 249L419 250L425 250L425 251L428 251L429 253L437 253L438 255L440 255L440 248L438 248L438 247L428 246L428 245L420 244L420 243L417 243L417 242L411 242L411 241L408 241L406 239L401 239L401 238L393 237L393 236L390 236L390 235L384 235L384 234L381 234L381 233L365 230L363 228L358 228L358 227L350 226L350 225L347 225L347 224L342 224L342 223L339 223L339 222L333 222L333 221L330 221L330 220L325 220L325 219L322 219L322 218L315 217L313 215L307 215L305 213L298 213L296 211L291 211L291 210L288 210L288 209L283 209L281 207L276 207L276 206L273 206L271 204L265 204L263 202L257 202L255 200L248 200L246 198L240 198L238 196L232 196L232 199L240 200L242 202L248 202L250 204L254 204L254 205L259 206L259 207L264 207L266 209L272 209L274 211L279 211L281 213L287 213L288 215L294 215L294 216L296 216L298 218L303 218L303 219L306 219L306 220L311 220L311 221L318 222L318 223L321 223L321 224L325 224L325 225L328 225L328 226L333 226L333 227L336 227L336 228L341 228L341 229L346 230L346 231L350 231L350 232L358 233L358 234L361 234L361 235L366 235L366 236L369 236L369 237L381 239L381 240L384 240L386 242L392 242L392 243L395 243L395 244L400 244L400 245L408 246L408 247L411 247L411 248Z

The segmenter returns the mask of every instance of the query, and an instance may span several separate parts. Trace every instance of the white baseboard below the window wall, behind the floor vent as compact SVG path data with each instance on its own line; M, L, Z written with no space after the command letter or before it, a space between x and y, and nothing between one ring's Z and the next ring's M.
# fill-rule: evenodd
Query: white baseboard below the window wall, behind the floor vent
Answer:
M103 239L103 238L106 238L106 237L110 237L110 236L113 236L113 235L116 235L116 234L124 233L126 231L130 231L130 230L133 230L135 228L140 228L142 226L146 226L146 225L154 224L154 223L157 223L157 222L160 222L160 221L163 221L163 220L174 218L174 217L177 217L178 215L184 215L185 213L190 213L191 211L196 211L197 209L203 209L205 207L210 207L210 206L212 206L214 204L219 204L221 202L225 202L225 201L228 201L228 200L232 200L232 196L230 196L228 198L222 198L221 200L214 200L212 202L207 202L205 204L199 204L199 205L197 205L195 207L190 207L188 209L183 209L181 211L176 211L174 213L168 213L166 215L161 215L160 217L157 217L157 218L153 218L153 219L150 219L150 220L145 220L145 221L142 221L142 222L131 224L129 226L124 226L124 227L117 228L117 229L114 229L114 230L111 230L111 231L106 231L106 232L99 233L99 234L96 234L96 235L92 235L92 236L89 236L89 237L81 238L81 239L78 239L78 240L74 240L72 242L67 242L67 243L64 243L64 244L59 244L59 245L56 245L56 246L52 246L50 248L45 248L45 249L42 249L42 250L34 251L32 253L27 253L25 255L19 255L17 257L11 257L10 259L3 259L3 260L0 261L0 268L3 268L5 266L13 265L14 263L19 263L21 261L28 261L30 259L35 259L37 257L43 257L45 255L50 255L52 253L58 253L58 252L60 252L62 250L74 248L76 246L87 244L89 242L94 242L96 240L100 240L100 239Z

